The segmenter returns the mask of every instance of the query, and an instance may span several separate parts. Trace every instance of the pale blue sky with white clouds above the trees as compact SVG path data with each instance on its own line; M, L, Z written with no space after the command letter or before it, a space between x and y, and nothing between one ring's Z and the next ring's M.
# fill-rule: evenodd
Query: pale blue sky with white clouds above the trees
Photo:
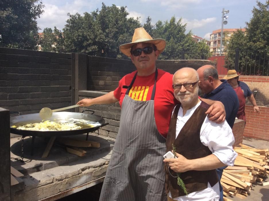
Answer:
M68 19L67 13L90 13L97 8L101 9L102 2L107 6L127 6L130 17L140 17L141 24L150 16L152 24L158 20L170 20L183 18L187 23L187 31L194 35L209 39L213 30L221 28L222 8L229 10L228 24L223 28L244 28L245 22L252 17L252 9L256 6L255 0L42 0L44 13L37 19L41 28L56 26L62 29ZM265 3L266 0L260 0Z

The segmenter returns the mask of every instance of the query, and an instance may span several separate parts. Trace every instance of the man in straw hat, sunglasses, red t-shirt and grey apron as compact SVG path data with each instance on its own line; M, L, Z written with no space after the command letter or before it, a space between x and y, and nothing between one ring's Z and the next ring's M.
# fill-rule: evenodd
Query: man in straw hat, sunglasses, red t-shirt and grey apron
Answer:
M80 106L119 101L121 119L100 200L166 200L163 155L172 109L173 75L156 69L164 39L152 39L144 30L134 31L131 43L120 51L131 57L136 71L125 75L119 86L103 96L80 100ZM212 102L211 102L212 104ZM223 105L213 104L210 119L224 121Z

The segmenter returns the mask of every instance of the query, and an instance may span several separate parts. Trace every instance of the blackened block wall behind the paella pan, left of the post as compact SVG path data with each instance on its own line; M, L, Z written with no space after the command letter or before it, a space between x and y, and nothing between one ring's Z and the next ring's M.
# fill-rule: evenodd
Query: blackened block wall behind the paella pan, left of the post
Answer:
M71 54L0 48L0 107L23 114L71 103Z

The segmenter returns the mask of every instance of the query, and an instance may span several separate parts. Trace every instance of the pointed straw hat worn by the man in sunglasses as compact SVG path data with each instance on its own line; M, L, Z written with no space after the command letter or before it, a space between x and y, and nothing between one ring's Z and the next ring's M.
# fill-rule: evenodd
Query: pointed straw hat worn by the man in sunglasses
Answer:
M166 45L164 39L161 38L152 39L150 34L148 34L148 32L146 32L146 30L143 27L141 27L135 29L133 33L132 42L120 45L119 50L128 57L131 57L131 47L139 42L146 42L155 45L159 53L161 53L165 49Z

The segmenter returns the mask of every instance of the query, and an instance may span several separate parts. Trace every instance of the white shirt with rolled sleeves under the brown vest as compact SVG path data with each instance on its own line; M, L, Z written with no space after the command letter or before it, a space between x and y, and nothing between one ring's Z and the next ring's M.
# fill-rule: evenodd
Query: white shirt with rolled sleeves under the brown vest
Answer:
M186 114L183 116L183 109L180 107L178 115L177 115L177 127L176 127L176 138L197 109L197 107L201 104L201 101L194 106L193 108L187 110ZM229 166L233 166L237 153L233 150L233 144L235 142L235 138L233 136L233 132L227 121L217 124L215 122L209 121L208 117L205 118L201 130L200 130L200 140L203 145L207 146L212 154L218 157L218 159ZM208 183L208 188L192 192L187 196L180 196L174 198L174 200L188 200L188 201L195 201L195 200L203 200L203 201L213 201L219 200L219 184L218 182L211 187ZM169 192L169 196L171 197L171 193Z

